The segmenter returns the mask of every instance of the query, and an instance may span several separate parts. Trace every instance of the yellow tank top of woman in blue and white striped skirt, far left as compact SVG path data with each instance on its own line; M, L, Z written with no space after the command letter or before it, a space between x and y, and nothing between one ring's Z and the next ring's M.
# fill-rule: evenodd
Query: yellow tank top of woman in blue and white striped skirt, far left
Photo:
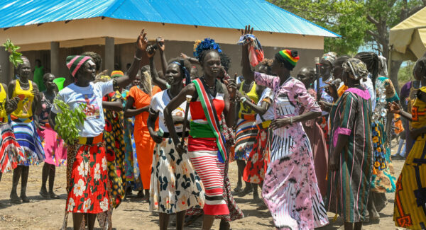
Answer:
M16 81L13 90L13 98L19 97L18 108L11 114L11 120L20 120L21 122L31 122L33 120L33 81L29 81L30 87L27 90L21 88L19 80Z

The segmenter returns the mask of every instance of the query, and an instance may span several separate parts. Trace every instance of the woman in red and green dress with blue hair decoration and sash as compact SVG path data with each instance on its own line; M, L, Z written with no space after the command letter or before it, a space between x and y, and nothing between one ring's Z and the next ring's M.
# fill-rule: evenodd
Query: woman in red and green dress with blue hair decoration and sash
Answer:
M206 38L200 42L195 56L202 66L203 76L183 88L164 109L165 124L175 149L190 156L192 166L204 185L206 201L202 229L211 229L215 216L229 214L223 197L227 154L219 120L224 112L226 125L234 125L236 85L234 80L227 81L227 86L217 80L221 66L219 52L222 50L214 40ZM192 120L186 153L176 133L171 112L186 100L187 95L192 96Z

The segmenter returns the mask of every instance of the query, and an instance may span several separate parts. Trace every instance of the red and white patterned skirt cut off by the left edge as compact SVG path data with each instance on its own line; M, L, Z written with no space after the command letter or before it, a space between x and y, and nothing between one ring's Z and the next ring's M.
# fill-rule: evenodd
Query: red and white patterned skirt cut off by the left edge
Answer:
M6 173L24 160L15 134L8 123L0 123L0 173Z

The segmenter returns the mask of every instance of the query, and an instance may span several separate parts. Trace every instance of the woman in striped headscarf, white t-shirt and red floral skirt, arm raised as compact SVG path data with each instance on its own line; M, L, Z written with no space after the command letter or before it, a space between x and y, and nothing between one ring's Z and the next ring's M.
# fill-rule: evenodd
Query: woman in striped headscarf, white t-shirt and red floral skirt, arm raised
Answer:
M98 213L107 212L110 207L107 193L107 159L102 133L105 120L102 113L102 97L107 93L124 88L135 79L138 67L146 48L146 33L142 30L136 42L136 54L129 70L129 76L122 76L107 82L93 83L96 67L88 56L67 57L67 67L75 79L58 93L58 100L62 100L71 109L86 103L84 110L86 117L79 129L79 139L68 144L67 152L67 203L66 214L62 229L67 225L67 213L72 212L74 229L79 229L84 215L87 215L87 226L93 229ZM49 122L55 127L55 117L61 111L53 105L49 115Z

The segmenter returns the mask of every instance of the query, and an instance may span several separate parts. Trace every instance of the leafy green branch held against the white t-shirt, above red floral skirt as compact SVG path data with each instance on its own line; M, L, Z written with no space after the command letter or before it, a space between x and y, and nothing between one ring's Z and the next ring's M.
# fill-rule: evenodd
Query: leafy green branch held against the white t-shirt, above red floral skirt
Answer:
M58 135L65 141L67 144L75 144L75 141L79 137L78 126L83 125L84 118L84 109L86 104L80 104L74 111L70 110L70 106L67 105L62 100L55 99L56 109L62 111L58 113L55 117L55 130L58 132Z

